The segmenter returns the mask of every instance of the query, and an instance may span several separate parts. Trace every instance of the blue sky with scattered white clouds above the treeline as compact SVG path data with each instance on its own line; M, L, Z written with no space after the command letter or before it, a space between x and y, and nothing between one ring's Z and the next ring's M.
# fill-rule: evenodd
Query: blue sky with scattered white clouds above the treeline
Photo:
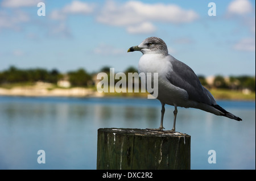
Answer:
M38 16L38 2L46 16ZM209 16L209 2L216 16ZM197 75L255 75L255 1L0 1L0 70L137 67L149 36Z

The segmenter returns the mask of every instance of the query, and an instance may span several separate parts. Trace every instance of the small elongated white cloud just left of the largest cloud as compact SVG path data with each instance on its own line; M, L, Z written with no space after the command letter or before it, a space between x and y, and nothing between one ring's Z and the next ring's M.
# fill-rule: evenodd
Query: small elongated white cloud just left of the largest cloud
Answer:
M68 15L71 14L90 14L94 10L94 5L81 2L81 1L72 1L71 4L64 6L60 10L53 10L50 14L50 18L55 20L64 20Z

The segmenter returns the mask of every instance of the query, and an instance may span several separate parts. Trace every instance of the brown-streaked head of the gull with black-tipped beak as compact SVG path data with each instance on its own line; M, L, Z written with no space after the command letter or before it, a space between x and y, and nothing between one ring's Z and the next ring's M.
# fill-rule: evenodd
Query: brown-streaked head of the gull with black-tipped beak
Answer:
M140 51L143 54L168 54L166 43L159 37L148 37L141 44L127 50L127 52L134 51Z

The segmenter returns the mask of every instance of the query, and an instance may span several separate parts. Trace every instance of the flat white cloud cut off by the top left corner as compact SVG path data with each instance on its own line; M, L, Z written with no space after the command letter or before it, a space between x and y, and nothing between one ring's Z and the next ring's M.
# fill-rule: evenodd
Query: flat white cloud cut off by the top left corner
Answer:
M39 2L43 2L42 0L3 0L1 5L3 7L30 7L38 5Z

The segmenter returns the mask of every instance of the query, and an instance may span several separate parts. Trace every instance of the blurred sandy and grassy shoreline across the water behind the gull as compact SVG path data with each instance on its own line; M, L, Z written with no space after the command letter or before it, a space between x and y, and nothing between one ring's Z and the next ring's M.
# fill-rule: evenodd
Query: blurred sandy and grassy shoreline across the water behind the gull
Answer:
M216 100L234 100L234 101L254 101L255 93L253 96L238 93L236 91L226 91L223 90L212 90L213 96ZM234 94L234 95L232 95ZM238 96L238 94L241 94ZM84 87L72 87L69 89L61 88L49 88L49 87L39 87L39 86L17 86L11 89L6 89L0 87L0 96L31 96L31 97L73 97L73 98L110 98L110 97L120 97L120 98L147 98L148 93L135 93L135 92L113 92L113 93L100 93L92 88Z

